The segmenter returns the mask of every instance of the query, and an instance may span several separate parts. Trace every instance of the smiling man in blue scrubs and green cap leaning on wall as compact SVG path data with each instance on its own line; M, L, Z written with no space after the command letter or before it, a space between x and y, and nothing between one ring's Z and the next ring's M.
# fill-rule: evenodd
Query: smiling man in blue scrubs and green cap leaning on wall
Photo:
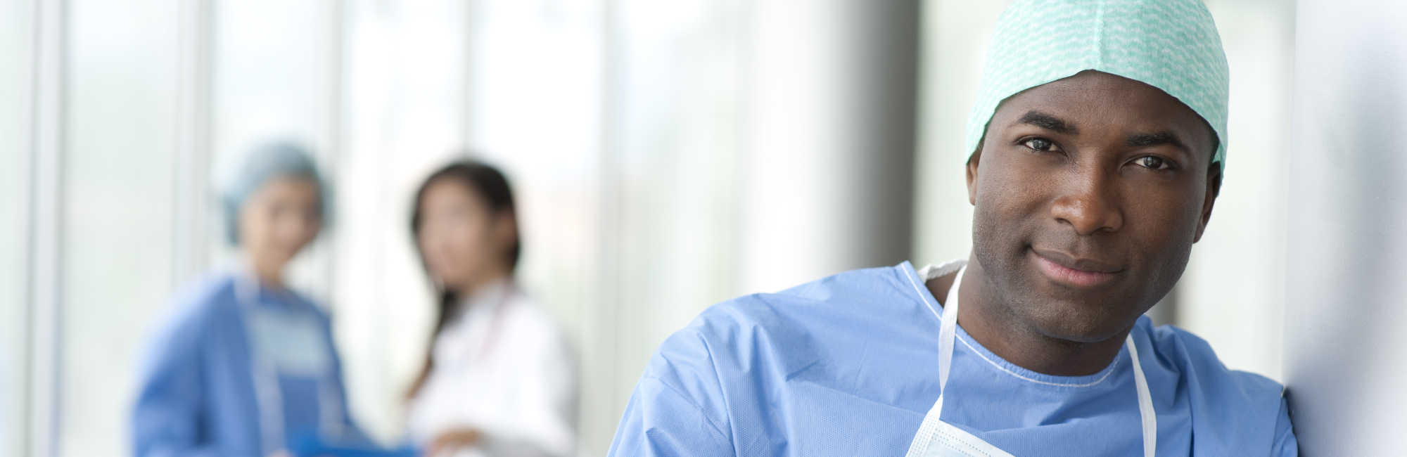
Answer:
M1279 384L1142 316L1210 222L1227 91L1197 0L1017 0L968 124L968 259L709 308L611 454L1297 454Z

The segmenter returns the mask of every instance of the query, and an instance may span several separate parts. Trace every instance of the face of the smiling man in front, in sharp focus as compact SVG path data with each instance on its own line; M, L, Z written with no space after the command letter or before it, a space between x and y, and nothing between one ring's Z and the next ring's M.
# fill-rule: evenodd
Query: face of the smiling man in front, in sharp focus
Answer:
M968 163L983 298L1040 335L1100 342L1172 290L1216 198L1214 136L1166 93L1082 72L998 107Z

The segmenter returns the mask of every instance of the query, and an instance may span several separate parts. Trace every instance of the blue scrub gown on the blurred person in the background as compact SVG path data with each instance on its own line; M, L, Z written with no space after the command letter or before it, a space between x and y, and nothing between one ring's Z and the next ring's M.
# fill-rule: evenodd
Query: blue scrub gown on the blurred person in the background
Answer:
M176 305L176 315L151 342L141 371L132 411L134 454L265 456L245 330L249 305L236 300L235 276L207 278L182 292ZM332 370L321 380L277 375L286 440L318 433L319 397L335 397L336 411L342 412L332 427L342 430L338 439L367 443L346 412L342 367L326 314L290 291L259 290L256 307L314 315L332 357Z

